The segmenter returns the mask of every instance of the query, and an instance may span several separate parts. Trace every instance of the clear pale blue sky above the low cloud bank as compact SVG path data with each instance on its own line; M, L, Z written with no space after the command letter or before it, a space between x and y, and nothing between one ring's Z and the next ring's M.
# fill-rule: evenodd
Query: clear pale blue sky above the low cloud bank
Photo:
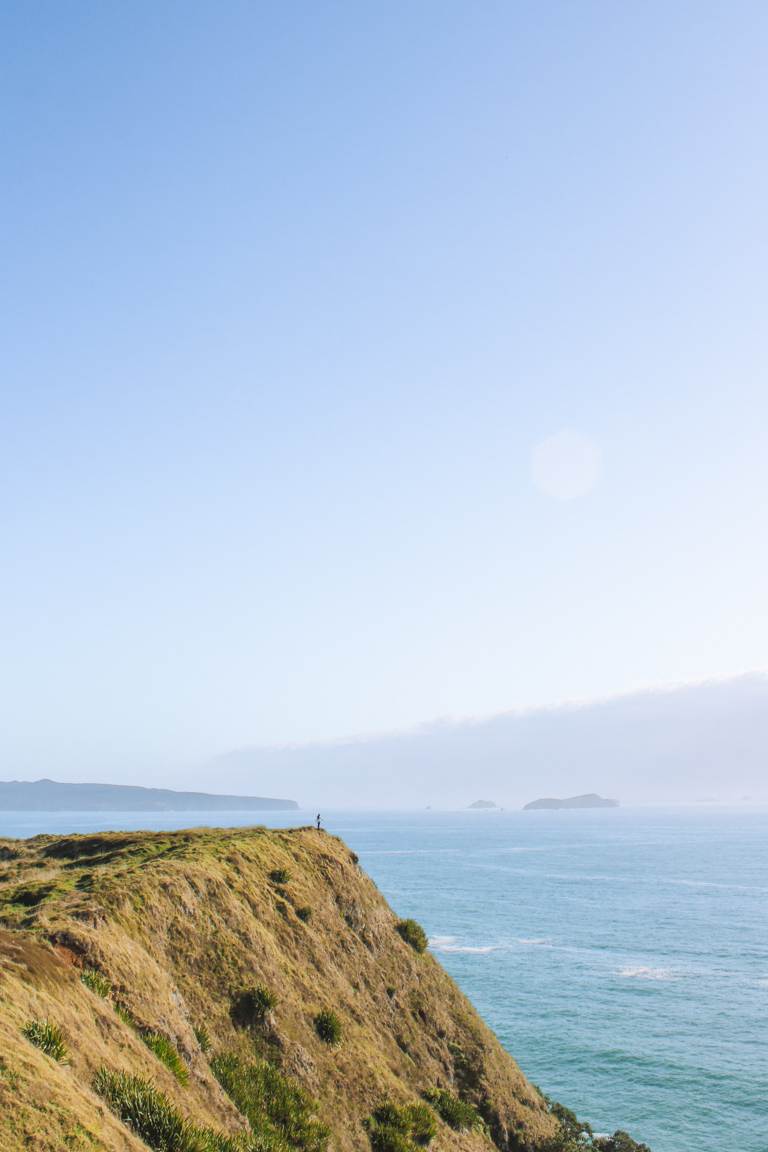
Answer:
M768 5L0 6L0 775L768 664Z

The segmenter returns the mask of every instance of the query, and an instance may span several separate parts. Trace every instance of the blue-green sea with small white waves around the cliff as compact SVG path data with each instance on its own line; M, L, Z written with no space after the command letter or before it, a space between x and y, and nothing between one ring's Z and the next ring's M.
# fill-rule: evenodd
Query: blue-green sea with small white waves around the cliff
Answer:
M0 835L252 823L0 812ZM768 1152L768 810L328 812L324 825L421 922L529 1077L595 1131L626 1128L653 1152Z

